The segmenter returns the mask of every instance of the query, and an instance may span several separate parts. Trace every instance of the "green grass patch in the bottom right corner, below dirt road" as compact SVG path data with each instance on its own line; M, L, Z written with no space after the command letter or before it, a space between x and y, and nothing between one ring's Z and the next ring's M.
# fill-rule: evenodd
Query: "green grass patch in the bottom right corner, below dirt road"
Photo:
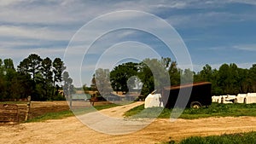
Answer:
M168 141L163 144L254 144L256 132L237 133L230 135L212 135L207 137L192 136L180 142Z

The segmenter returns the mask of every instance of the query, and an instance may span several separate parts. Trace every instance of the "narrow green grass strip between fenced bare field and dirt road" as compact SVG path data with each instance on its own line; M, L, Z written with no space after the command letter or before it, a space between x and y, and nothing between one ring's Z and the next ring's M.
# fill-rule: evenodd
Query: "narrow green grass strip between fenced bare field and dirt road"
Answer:
M49 120L49 119L61 119L61 118L67 118L67 117L71 117L74 116L74 113L77 114L85 114L88 112L94 112L96 110L102 110L102 109L106 109L106 108L111 108L111 107L117 107L119 105L116 104L108 104L108 105L102 105L102 106L95 106L93 107L86 107L83 109L76 109L76 110L67 110L67 111L62 111L62 112L48 112L45 113L42 116L38 116L36 118L32 118L27 120L25 123L30 123L30 122L42 122L45 120ZM96 110L95 110L96 109Z

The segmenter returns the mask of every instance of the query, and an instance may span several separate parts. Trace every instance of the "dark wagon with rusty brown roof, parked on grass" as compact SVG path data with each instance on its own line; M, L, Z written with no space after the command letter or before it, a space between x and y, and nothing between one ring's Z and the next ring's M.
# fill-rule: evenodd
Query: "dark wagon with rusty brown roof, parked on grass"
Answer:
M177 96L181 91L177 101ZM191 93L190 93L191 92ZM183 107L202 107L212 104L212 84L209 82L200 82L193 84L181 84L176 86L168 86L162 89L162 101L166 108L174 106ZM185 100L189 100L186 102Z

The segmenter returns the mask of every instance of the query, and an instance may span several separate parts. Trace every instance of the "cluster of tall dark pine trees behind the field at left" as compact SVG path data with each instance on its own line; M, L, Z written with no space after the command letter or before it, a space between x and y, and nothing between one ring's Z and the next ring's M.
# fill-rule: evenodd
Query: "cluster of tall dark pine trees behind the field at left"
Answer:
M68 95L73 79L60 58L42 59L31 54L15 69L11 59L0 59L0 101L14 101L32 96L33 101L65 100L59 90ZM63 84L63 85L61 85Z

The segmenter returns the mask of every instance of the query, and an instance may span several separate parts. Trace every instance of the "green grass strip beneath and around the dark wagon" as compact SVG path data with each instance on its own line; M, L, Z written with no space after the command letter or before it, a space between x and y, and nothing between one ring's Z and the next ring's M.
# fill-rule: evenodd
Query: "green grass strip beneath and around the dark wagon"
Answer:
M125 112L126 117L135 118L170 118L172 109L152 107L144 109L144 105ZM256 104L218 104L199 109L186 108L179 118L239 117L256 116Z

